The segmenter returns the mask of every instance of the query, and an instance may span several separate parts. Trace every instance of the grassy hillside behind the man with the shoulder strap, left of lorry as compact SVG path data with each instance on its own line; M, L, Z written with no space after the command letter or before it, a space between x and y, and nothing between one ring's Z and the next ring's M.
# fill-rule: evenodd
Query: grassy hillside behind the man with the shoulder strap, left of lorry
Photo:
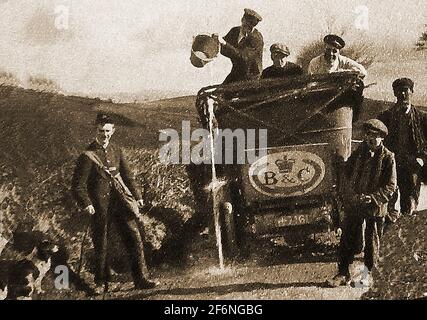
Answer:
M96 114L104 111L118 123L113 140L124 147L137 182L148 186L146 198L175 214L169 221L153 214L144 218L148 241L159 249L168 239L168 223L182 226L194 204L185 167L159 163L158 134L165 128L179 130L184 119L197 125L193 106L193 97L115 105L0 87L2 237L10 239L16 228L42 230L65 241L77 259L88 219L71 198L70 180L77 156L93 140Z

